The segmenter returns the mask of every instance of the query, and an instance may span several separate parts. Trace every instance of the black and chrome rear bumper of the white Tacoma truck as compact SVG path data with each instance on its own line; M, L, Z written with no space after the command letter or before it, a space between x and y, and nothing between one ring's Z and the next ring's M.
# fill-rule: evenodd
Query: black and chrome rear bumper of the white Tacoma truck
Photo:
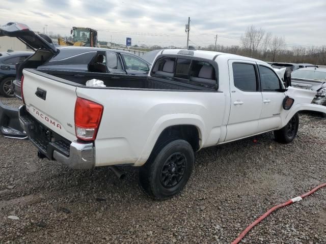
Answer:
M25 106L19 108L19 122L29 139L50 160L57 160L72 169L95 166L93 143L70 142L52 132L30 115Z

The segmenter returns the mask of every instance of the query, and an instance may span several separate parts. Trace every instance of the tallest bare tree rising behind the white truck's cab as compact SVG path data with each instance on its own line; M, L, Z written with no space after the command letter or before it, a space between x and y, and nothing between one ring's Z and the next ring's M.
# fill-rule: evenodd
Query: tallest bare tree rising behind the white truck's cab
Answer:
M241 36L241 43L243 48L249 50L249 56L253 56L258 46L265 35L265 31L262 28L257 29L254 25L248 26L244 35Z

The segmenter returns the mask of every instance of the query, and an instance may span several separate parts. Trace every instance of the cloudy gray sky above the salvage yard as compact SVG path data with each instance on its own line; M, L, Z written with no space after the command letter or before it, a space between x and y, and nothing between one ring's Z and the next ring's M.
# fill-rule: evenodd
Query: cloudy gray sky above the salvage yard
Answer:
M191 44L238 45L254 24L284 36L288 48L326 45L326 0L1 0L0 24L22 22L34 31L69 35L72 26L98 30L98 40L184 46L191 17Z

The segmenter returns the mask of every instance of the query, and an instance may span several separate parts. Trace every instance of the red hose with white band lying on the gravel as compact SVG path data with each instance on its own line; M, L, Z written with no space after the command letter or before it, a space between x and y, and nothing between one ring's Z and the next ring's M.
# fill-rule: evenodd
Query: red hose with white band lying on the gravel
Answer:
M233 242L232 244L237 244L241 241L241 239L255 226L257 225L259 222L261 222L263 219L265 219L268 215L270 215L271 212L274 212L276 209L279 209L281 207L285 207L287 205L292 204L293 202L298 202L301 201L303 198L313 194L315 191L317 191L320 188L326 187L326 183L319 185L318 187L315 187L314 189L312 189L310 192L305 193L303 195L301 195L300 197L295 197L291 200L288 200L287 202L281 203L279 205L276 205L272 208L270 208L267 212L265 212L265 214L263 214L262 216L260 216L257 220L255 220L253 223L251 223Z

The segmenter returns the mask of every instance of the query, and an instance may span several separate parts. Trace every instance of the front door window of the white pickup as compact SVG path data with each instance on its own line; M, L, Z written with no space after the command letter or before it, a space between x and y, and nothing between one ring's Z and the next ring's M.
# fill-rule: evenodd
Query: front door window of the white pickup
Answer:
M260 65L259 76L262 92L273 92L281 88L278 76L271 69Z

